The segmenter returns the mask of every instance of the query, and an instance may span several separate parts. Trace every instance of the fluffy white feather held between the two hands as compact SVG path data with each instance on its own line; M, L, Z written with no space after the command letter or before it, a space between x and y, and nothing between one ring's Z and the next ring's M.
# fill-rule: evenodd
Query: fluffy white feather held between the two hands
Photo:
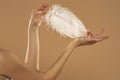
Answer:
M78 38L87 34L87 29L74 13L60 5L53 5L49 9L45 21L63 36Z

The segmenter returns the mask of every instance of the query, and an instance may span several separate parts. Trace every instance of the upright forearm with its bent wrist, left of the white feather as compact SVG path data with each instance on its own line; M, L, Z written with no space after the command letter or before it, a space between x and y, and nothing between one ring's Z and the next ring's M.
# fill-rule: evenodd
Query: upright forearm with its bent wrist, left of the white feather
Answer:
M38 29L43 20L43 16L36 11L32 12L28 26L28 45L25 63L39 70L39 35Z

